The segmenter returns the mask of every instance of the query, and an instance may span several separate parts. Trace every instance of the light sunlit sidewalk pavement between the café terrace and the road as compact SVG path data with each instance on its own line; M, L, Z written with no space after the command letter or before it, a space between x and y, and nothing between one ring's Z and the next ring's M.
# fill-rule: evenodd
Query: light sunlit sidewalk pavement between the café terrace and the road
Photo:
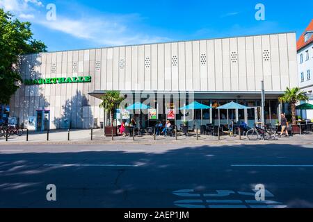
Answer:
M178 135L177 140L174 137L156 136L154 140L153 135L143 135L141 137L105 137L103 129L93 129L93 140L91 140L91 130L70 130L70 140L67 140L67 130L49 130L49 141L47 141L47 131L35 132L29 131L29 141L26 142L26 130L24 135L18 137L17 135L10 136L8 142L5 137L0 137L1 144L313 144L313 135L294 135L292 137L282 137L277 140L257 140L249 141L245 136L236 135L230 137L224 135L220 137L214 137L211 135L199 135L198 139L195 135L186 137L184 135Z

